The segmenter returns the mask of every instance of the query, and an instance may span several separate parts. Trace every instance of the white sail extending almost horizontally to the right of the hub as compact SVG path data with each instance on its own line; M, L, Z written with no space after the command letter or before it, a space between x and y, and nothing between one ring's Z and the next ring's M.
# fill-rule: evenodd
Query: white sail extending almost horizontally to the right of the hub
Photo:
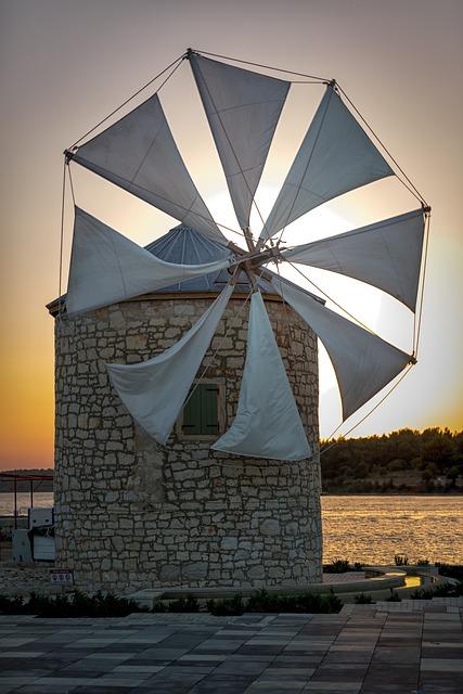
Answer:
M415 310L424 237L416 209L337 236L282 250L286 260L368 282Z

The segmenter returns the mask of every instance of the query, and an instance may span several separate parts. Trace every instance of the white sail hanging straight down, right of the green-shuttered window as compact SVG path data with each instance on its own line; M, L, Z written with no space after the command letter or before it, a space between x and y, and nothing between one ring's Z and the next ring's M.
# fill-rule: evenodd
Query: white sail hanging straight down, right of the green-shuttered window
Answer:
M312 454L260 292L250 299L236 416L213 448L275 460Z

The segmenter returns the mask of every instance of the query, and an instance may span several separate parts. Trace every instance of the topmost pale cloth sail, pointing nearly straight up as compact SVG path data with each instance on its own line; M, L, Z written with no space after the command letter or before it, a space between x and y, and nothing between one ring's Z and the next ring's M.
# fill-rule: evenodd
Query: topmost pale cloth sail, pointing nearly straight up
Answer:
M241 229L290 90L290 82L192 53L190 63Z

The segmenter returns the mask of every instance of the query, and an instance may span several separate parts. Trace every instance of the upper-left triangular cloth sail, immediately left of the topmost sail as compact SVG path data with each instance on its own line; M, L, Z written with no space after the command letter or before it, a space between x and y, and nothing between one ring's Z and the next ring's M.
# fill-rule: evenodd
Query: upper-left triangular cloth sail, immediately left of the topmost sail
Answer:
M155 94L77 150L74 160L215 241L203 202Z

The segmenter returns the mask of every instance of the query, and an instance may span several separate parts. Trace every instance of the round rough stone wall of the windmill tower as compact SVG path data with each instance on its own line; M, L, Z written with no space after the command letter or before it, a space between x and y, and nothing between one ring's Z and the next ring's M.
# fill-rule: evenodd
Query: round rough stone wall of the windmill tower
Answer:
M179 429L160 447L108 382L106 362L134 363L170 347L213 299L153 295L56 321L57 564L82 588L321 579L317 344L280 299L266 297L266 306L316 452L310 461L233 457L213 451L214 438L184 439ZM244 297L230 300L202 367L223 383L227 426L247 313Z

